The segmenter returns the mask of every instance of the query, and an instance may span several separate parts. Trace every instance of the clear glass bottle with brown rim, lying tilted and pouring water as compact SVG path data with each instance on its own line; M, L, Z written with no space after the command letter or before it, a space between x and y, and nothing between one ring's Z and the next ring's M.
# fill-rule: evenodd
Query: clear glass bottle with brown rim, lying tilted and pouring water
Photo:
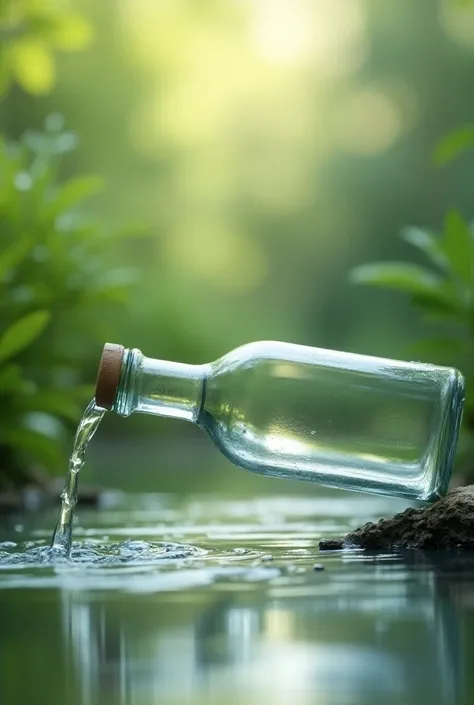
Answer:
M252 472L428 501L447 491L464 379L447 367L278 342L205 365L108 344L96 403L198 424Z

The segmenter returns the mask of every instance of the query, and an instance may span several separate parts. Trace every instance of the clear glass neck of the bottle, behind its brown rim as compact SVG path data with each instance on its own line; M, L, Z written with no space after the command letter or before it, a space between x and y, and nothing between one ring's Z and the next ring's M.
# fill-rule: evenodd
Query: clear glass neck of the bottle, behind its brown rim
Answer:
M138 412L195 423L207 371L208 365L154 360L126 350L113 410L121 416Z

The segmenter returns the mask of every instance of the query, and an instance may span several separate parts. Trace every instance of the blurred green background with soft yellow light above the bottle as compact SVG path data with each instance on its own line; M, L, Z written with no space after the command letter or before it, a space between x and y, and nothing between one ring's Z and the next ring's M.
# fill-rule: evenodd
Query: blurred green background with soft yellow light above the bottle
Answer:
M79 141L55 179L105 182L80 209L102 224L101 265L81 286L135 273L125 295L111 287L110 307L92 298L71 318L61 304L55 335L46 327L34 344L46 360L61 349L74 375L51 363L45 389L66 398L93 382L106 340L195 363L259 339L410 359L424 331L409 301L354 287L348 273L421 261L403 226L437 229L453 206L472 215L472 159L439 169L432 157L472 118L471 3L3 0L0 41L5 141L62 115ZM65 447L75 414L62 414ZM105 426L130 443L197 439L168 420Z

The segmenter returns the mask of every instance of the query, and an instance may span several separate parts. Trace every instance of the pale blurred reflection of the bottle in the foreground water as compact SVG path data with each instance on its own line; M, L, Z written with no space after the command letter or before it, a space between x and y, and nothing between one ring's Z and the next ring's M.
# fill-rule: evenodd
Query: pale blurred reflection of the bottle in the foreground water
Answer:
M205 601L127 595L123 605L67 591L77 702L452 705L464 678L459 615L434 573L421 583L406 572L352 595L282 583Z

